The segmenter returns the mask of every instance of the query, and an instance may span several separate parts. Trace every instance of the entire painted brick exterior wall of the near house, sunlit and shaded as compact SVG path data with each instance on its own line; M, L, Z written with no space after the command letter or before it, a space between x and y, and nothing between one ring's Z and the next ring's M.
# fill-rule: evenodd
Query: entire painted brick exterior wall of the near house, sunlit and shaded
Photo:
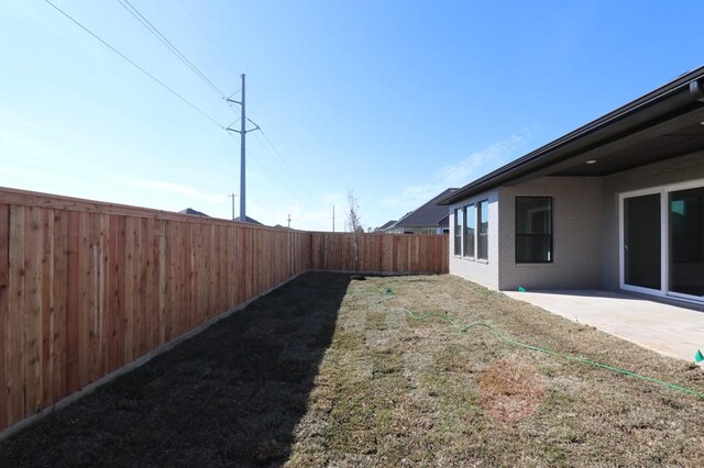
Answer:
M492 289L618 290L619 194L704 179L704 151L606 177L542 177L454 203L450 274ZM516 263L516 197L552 197L553 261ZM454 210L488 200L488 261L454 253Z

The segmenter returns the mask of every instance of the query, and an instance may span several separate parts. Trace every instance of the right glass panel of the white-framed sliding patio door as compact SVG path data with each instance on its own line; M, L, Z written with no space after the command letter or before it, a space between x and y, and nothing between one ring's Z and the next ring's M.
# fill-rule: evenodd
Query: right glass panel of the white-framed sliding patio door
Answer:
M704 187L670 192L670 292L704 297Z

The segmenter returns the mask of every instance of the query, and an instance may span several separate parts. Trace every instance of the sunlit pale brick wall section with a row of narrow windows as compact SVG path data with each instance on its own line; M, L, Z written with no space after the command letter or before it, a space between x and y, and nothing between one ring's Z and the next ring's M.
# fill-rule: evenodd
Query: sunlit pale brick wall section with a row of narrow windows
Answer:
M470 203L488 201L488 259L470 259L454 255L454 210ZM470 281L479 282L490 289L498 289L498 233L501 222L498 215L498 191L492 190L463 200L461 203L451 204L450 209L450 274L460 276Z

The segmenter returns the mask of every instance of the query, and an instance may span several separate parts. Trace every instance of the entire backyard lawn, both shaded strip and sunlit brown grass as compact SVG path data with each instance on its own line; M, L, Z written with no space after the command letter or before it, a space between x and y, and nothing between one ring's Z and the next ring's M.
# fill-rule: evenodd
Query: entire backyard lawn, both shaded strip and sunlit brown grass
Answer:
M662 357L450 276L308 274L0 443L9 466L702 466L704 392Z

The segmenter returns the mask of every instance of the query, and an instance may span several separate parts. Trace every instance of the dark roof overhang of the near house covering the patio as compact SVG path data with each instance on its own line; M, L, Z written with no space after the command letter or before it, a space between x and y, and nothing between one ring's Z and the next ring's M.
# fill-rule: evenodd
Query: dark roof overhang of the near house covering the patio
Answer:
M704 148L704 67L468 183L450 204L510 181L600 177ZM594 163L587 163L594 161Z

